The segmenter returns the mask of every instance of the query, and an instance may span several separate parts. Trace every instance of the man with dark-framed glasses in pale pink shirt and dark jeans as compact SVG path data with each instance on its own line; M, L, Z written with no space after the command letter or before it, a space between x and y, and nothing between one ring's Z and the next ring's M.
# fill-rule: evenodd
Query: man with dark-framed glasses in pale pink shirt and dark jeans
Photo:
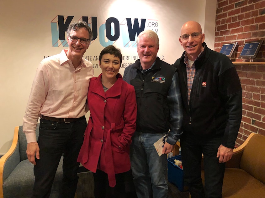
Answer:
M92 63L83 58L92 39L86 22L67 28L68 50L41 61L23 117L28 160L34 164L32 197L49 197L61 159L63 180L60 197L74 197L77 187L77 156L87 126L87 91L93 77ZM40 117L38 141L36 125Z

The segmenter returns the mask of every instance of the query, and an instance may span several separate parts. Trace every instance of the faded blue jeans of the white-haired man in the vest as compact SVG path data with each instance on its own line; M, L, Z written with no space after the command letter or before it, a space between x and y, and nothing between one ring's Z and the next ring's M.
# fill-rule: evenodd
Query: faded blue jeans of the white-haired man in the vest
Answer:
M139 133L135 131L130 147L133 181L138 198L167 197L167 155L158 156L154 143L163 133Z

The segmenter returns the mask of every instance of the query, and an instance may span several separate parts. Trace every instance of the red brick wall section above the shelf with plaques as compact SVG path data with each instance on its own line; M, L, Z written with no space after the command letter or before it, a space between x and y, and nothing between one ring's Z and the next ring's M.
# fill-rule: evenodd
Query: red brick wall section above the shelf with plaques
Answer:
M248 41L265 39L265 0L217 0L215 25L215 51L220 52L223 44L237 41L231 60L238 59ZM263 42L255 62L265 62Z

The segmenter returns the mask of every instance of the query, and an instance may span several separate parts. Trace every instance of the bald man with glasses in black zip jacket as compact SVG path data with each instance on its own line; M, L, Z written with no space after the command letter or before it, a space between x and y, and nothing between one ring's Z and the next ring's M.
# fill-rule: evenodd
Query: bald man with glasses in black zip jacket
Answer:
M209 49L204 37L198 22L184 23L179 42L185 52L173 64L183 101L181 158L191 197L222 197L225 162L241 123L242 89L231 60Z

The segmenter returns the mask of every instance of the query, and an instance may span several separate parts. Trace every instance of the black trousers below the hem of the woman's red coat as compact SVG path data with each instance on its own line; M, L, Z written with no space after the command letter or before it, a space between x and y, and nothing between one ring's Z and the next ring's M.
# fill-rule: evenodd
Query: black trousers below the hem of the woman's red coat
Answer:
M93 173L95 190L95 198L136 198L135 189L132 181L131 170L115 174L116 185L109 186L107 173L97 169Z

